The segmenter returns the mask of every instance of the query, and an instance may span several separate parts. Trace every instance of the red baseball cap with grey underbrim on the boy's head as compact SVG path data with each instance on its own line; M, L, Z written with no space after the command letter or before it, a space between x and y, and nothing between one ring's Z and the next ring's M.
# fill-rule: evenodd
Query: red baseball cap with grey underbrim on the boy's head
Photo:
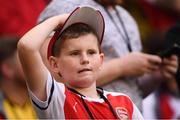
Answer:
M57 28L48 45L47 58L53 55L53 47L57 40L60 40L62 32L75 23L83 23L90 26L97 34L101 44L104 36L105 23L100 11L91 7L78 7L67 18L61 28Z

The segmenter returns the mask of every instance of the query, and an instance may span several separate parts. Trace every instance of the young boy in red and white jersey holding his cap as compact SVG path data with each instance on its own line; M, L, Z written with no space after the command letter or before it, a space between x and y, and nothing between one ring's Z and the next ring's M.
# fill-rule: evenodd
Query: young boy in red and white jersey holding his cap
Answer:
M30 96L39 118L143 119L128 96L96 89L104 57L100 50L104 34L100 12L82 7L67 16L49 18L18 43ZM48 60L65 85L50 75L39 52L54 29L56 32L48 46Z

